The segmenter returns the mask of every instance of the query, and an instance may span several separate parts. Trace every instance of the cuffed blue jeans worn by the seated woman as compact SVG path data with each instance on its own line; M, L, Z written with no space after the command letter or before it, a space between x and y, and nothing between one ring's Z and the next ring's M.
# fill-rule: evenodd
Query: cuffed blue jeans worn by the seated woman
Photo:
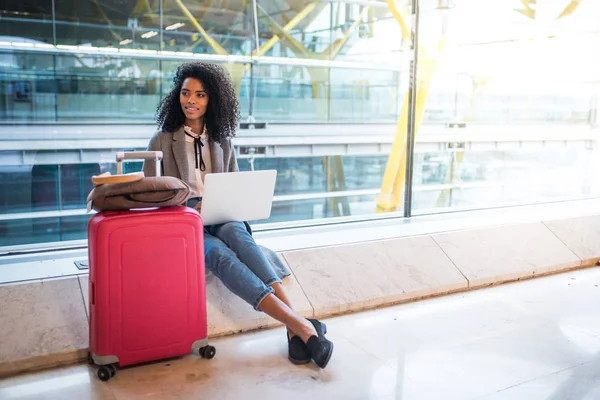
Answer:
M281 283L271 263L242 222L204 228L206 268L234 294L258 311L258 305Z

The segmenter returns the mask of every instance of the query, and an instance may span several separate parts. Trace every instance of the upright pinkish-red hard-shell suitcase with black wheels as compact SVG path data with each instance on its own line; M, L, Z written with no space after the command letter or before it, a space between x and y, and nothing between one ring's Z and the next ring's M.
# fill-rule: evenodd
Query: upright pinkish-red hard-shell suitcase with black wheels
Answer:
M188 207L101 212L88 224L90 364L199 353L208 345L203 224Z

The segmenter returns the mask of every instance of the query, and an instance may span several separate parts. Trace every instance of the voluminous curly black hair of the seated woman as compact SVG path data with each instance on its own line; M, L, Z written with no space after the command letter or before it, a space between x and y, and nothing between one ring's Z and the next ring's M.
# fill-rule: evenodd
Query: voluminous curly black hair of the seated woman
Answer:
M183 81L196 78L208 92L208 106L204 117L206 131L211 140L220 143L235 136L240 117L239 104L229 74L223 67L204 62L189 62L179 66L173 77L173 88L157 108L156 122L161 130L175 132L185 122L179 93Z

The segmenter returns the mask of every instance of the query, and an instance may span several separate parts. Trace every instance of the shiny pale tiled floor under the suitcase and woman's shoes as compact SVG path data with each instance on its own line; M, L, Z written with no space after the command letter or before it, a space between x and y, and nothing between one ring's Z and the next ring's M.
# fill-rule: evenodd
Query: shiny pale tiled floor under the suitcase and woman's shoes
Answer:
M600 269L329 319L329 367L293 366L282 329L214 340L190 356L0 381L0 399L600 398Z

